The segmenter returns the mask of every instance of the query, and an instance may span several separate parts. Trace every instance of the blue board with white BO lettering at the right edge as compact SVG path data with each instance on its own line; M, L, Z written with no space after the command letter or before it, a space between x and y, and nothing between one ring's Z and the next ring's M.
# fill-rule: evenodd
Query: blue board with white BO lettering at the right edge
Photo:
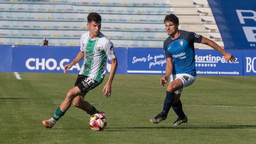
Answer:
M256 50L243 51L243 75L256 76Z

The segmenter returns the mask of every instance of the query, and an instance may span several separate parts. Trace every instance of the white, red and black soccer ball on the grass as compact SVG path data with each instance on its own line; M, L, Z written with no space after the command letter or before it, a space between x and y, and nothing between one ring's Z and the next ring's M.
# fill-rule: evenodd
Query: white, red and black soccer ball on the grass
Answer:
M103 114L96 113L90 117L89 125L95 131L102 131L107 127L107 119Z

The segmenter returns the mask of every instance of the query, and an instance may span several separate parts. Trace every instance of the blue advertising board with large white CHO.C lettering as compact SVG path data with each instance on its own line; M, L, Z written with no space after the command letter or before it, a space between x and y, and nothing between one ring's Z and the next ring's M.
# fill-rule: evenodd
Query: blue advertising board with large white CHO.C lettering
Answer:
M13 47L13 72L56 72L62 73L66 64L73 61L80 51L79 47ZM116 73L127 73L127 48L115 48L118 61ZM11 62L11 61L10 61ZM79 73L83 60L72 66L67 73ZM106 73L109 73L111 63L107 62Z

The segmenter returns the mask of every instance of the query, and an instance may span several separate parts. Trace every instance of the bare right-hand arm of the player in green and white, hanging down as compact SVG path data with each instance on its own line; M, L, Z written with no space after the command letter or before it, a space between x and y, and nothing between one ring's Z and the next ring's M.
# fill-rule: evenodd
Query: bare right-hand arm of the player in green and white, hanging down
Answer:
M106 90L106 92L104 93L105 97L109 97L111 95L111 84L112 84L112 81L114 79L115 71L116 71L117 65L118 65L116 58L113 58L109 61L111 62L111 69L110 69L109 79L108 79L106 85L104 86L104 88L102 90L102 92L104 92Z

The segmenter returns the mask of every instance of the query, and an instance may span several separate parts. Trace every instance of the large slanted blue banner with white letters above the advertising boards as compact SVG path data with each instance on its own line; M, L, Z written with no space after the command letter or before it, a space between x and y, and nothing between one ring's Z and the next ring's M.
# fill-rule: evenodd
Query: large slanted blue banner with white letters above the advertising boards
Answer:
M255 0L208 0L227 49L256 49Z

